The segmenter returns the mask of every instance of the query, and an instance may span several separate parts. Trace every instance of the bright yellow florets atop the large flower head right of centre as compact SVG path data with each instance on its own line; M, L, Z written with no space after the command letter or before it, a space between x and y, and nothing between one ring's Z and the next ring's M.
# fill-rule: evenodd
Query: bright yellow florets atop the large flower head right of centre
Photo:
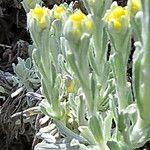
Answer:
M104 20L108 24L113 23L114 28L119 30L122 28L122 17L128 17L128 15L124 7L116 6L105 15Z

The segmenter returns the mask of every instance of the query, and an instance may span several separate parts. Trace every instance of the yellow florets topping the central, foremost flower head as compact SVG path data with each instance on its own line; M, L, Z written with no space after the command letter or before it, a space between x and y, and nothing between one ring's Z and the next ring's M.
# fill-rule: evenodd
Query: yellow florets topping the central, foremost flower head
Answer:
M87 16L81 12L81 10L76 11L74 14L70 16L70 20L73 23L73 29L81 29L83 23L85 23L85 27L92 31L92 21L87 18Z

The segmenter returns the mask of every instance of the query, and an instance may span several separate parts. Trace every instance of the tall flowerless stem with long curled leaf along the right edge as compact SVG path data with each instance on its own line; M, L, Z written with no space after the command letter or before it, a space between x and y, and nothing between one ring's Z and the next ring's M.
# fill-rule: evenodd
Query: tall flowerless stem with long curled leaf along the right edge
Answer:
M135 126L132 128L132 140L136 145L136 140L139 141L139 145L142 145L145 141L149 140L149 39L150 39L150 1L141 1L142 5L142 40L135 43L136 53L134 54L134 65L133 65L133 82L134 82L134 93L135 100L137 103L137 120ZM143 140L142 140L143 137Z

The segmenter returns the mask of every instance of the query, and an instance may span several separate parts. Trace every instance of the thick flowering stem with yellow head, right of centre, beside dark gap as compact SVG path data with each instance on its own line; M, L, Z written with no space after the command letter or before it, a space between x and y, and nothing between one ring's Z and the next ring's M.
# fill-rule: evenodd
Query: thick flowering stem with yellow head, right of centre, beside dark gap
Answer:
M131 27L129 19L127 9L118 6L116 2L112 4L111 9L107 10L104 16L104 21L107 24L107 30L113 50L113 54L110 59L113 64L113 72L116 77L119 109L126 108L129 104L128 101L131 100L131 97L129 97L126 77L131 41Z

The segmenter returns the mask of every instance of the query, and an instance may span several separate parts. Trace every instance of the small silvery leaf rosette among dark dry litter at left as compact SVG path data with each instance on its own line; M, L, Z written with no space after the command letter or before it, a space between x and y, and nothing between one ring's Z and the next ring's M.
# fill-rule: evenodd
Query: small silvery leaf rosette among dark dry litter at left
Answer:
M28 53L32 51L33 46L29 46ZM11 97L14 98L18 96L23 91L34 92L40 88L40 75L32 63L31 58L26 60L18 57L18 63L12 64L14 75L12 75L13 86L16 86L17 89L11 93ZM35 98L24 97L24 100L27 101L28 106L33 104ZM15 114L14 114L15 115Z

